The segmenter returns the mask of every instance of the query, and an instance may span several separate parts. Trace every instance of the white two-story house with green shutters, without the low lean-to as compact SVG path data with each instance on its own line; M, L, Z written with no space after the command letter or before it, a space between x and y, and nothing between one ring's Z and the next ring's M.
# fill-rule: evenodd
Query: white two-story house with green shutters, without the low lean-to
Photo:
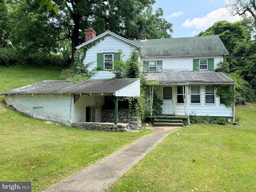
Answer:
M163 100L162 114L234 119L234 105L226 106L216 94L217 88L234 89L235 85L234 80L214 71L228 55L218 36L146 39L142 35L140 40L128 40L106 31L87 40L76 48L98 41L84 58L84 64L92 63L89 70L101 66L92 78L113 78L110 62L118 59L118 50L122 49L124 60L138 50L142 72L148 81L158 82L149 86Z

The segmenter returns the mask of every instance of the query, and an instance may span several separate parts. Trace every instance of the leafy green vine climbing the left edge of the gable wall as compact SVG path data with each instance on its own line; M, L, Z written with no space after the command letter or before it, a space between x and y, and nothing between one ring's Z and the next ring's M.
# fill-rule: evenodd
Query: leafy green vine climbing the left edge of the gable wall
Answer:
M100 39L90 42L82 48L77 49L74 53L74 63L72 64L72 66L70 66L70 68L62 70L60 74L60 79L71 83L78 83L86 79L89 79L92 76L92 74L95 73L97 68L94 68L91 71L89 71L87 68L93 62L84 64L83 60L85 58L86 51L90 47L96 45L98 42L100 42Z

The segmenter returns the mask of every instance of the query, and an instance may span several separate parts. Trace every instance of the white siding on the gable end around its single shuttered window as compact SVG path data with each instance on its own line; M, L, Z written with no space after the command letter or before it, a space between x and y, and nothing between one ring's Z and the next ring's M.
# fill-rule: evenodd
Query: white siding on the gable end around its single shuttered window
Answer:
M132 50L136 50L137 48L114 36L107 35L102 40L100 40L100 42L98 42L95 46L92 46L90 49L86 51L86 56L84 58L83 63L87 64L92 62L92 64L88 67L88 70L91 71L97 67L97 53L117 53L118 49L122 49L122 52L124 54L124 57L122 59L126 61L128 58L130 58ZM109 71L96 71L91 78L103 79L113 77L114 74Z

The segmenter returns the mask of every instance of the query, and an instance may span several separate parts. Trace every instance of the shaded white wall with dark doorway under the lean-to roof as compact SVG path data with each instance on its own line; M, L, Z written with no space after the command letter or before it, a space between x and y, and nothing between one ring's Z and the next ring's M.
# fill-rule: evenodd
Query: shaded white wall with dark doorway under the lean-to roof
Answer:
M92 122L101 122L101 108L104 105L104 96L81 95L74 103L73 122L86 122L86 107L92 107Z

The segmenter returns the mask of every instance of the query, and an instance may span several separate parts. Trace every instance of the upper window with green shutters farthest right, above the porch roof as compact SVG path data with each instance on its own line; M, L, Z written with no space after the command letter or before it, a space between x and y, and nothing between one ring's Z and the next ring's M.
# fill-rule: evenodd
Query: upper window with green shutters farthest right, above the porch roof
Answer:
M214 70L214 59L193 59L193 71Z

